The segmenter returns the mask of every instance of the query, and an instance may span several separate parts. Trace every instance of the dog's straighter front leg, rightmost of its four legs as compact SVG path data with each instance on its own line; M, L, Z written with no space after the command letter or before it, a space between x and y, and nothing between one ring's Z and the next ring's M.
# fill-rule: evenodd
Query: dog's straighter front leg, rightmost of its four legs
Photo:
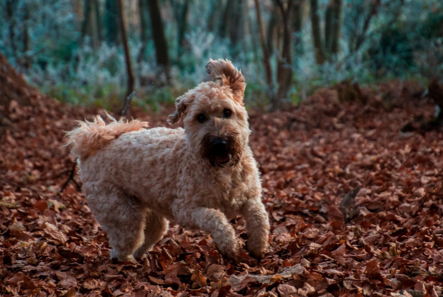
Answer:
M241 208L241 214L246 219L248 242L246 248L257 259L264 257L268 251L269 216L259 197L248 199Z

